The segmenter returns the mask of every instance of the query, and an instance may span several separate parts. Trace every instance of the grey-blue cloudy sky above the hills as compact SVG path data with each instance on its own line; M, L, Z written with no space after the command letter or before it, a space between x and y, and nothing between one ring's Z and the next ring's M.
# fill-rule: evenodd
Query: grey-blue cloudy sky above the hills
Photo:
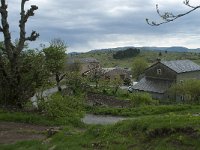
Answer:
M200 5L199 0L190 0ZM7 0L12 39L19 35L20 0ZM158 27L145 19L162 21L156 13L188 11L183 0L29 0L39 9L27 23L26 32L36 30L40 37L30 46L48 46L54 38L68 45L68 52L123 46L185 46L200 48L200 9L174 22ZM0 35L2 39L3 36Z

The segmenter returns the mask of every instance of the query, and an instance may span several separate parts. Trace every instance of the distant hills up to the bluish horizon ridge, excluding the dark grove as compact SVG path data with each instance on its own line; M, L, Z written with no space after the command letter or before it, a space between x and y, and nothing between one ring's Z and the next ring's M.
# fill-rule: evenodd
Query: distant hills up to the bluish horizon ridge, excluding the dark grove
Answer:
M152 47L151 49L154 49L155 47ZM124 58L124 59L114 59L113 54L116 53L116 51L121 50L122 48L116 48L116 49L104 49L104 50L93 50L86 53L76 53L76 55L68 55L70 58L87 58L92 57L96 58L98 61L100 61L101 65L103 67L131 67L132 61L135 58L144 58L147 60L147 62L150 64L154 63L157 58L160 58L162 60L177 60L177 59L189 59L192 60L198 64L200 64L200 55L198 53L194 52L185 52L187 48L181 48L181 47L171 47L171 48L161 48L162 51L158 50L144 50L146 48L141 48L140 54L137 57L131 57L131 58ZM126 47L127 49L127 47ZM158 48L157 48L158 49ZM165 50L164 50L165 49ZM166 51L166 49L168 49ZM174 52L174 49L179 49L179 52ZM180 52L181 49L184 52ZM160 56L161 53L161 56Z

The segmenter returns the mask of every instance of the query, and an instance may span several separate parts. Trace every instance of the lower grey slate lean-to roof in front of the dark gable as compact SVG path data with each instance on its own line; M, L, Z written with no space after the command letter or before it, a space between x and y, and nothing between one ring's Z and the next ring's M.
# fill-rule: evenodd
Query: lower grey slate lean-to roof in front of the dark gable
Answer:
M172 82L166 80L156 80L142 78L137 84L132 86L133 90L165 93L165 91L171 86Z

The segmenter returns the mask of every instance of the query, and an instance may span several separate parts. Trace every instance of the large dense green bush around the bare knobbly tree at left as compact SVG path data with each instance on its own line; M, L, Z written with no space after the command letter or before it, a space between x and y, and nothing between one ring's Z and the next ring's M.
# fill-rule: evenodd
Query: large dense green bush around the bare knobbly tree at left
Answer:
M10 62L3 57L6 72L10 72ZM48 71L45 67L44 55L40 51L25 50L19 55L17 76L9 75L5 78L0 73L0 104L23 106L33 96L37 88L46 83ZM12 82L11 82L12 81ZM11 83L10 83L11 82Z

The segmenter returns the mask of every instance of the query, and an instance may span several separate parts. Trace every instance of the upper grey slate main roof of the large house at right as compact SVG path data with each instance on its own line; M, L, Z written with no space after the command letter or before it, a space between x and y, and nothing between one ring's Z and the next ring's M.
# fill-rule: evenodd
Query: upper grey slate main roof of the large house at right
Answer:
M200 71L200 66L190 60L161 61L161 63L176 73Z

